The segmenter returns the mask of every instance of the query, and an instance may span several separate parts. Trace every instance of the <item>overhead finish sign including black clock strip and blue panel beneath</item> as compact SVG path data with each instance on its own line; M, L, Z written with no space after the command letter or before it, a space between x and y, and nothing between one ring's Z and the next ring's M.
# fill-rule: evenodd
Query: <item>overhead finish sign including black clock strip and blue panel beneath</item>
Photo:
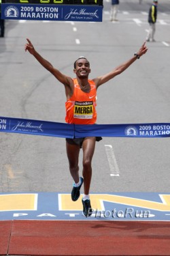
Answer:
M103 2L2 0L1 18L11 20L63 20L101 22Z

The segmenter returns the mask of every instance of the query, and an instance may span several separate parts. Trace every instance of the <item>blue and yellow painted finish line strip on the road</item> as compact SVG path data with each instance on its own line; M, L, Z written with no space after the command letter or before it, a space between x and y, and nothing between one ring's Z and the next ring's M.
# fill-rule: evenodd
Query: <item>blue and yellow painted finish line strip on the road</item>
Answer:
M92 215L70 194L1 193L0 221L170 221L170 193L90 194Z

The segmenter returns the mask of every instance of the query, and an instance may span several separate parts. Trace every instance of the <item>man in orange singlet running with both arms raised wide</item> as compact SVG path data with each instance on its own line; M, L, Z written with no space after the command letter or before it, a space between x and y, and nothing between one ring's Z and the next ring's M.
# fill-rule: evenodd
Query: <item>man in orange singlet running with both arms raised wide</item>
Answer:
M106 83L114 76L121 74L126 68L129 68L131 64L139 59L143 54L148 51L146 42L144 42L135 55L128 61L122 63L120 66L112 70L111 72L98 76L95 79L89 80L88 75L90 74L90 63L85 57L80 57L74 63L73 72L75 73L76 79L72 79L61 73L59 70L54 68L50 62L41 57L31 41L27 39L25 44L25 51L29 51L44 68L51 72L56 79L63 83L65 86L65 95L67 102L66 117L65 121L69 124L95 124L97 119L96 113L96 91L100 85ZM71 199L77 201L80 197L80 188L84 182L84 195L82 197L83 214L88 217L92 214L90 205L90 182L92 177L92 156L95 152L95 142L99 141L101 137L86 137L81 139L66 139L67 157L69 160L69 170L74 180L73 189L71 191ZM79 165L78 158L80 148L83 150L83 177L79 176Z

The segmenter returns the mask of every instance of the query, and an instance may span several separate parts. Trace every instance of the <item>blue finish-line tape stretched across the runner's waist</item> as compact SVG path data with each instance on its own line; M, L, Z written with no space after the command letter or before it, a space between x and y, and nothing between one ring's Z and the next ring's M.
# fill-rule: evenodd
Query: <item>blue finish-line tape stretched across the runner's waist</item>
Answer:
M170 123L153 124L64 124L0 117L0 132L14 132L61 138L82 137L170 137Z

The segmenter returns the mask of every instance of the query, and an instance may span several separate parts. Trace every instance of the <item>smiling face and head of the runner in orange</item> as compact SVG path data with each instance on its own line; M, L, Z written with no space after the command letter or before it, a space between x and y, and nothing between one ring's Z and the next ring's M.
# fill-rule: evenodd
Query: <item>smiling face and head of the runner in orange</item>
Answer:
M78 59L78 61L76 61L76 67L73 71L78 77L86 78L91 71L90 63L86 59Z

